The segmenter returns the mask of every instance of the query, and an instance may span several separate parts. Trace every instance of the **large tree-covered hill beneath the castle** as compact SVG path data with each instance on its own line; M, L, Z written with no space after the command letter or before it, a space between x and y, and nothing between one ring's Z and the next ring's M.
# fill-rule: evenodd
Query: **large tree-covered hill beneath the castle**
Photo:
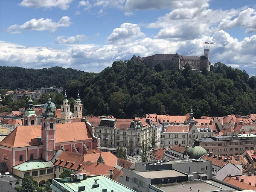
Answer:
M147 69L140 61L115 61L101 73L83 73L66 85L67 96L80 91L84 115L112 114L116 118L145 113L223 116L256 113L255 76L216 63L211 72Z

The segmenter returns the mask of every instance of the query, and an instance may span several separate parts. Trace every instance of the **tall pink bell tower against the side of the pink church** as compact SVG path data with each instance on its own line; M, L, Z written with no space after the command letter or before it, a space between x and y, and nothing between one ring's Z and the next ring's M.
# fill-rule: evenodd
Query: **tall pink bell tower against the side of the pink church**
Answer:
M41 141L43 143L42 158L46 161L55 155L55 115L52 112L51 102L47 102L47 110L43 114L41 127Z

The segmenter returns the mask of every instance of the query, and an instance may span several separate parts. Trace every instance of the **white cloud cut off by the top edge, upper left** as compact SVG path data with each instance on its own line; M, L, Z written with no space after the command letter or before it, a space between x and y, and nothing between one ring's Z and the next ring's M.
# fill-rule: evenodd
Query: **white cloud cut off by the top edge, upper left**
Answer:
M40 8L40 7L59 7L62 10L69 8L72 0L23 0L20 6Z

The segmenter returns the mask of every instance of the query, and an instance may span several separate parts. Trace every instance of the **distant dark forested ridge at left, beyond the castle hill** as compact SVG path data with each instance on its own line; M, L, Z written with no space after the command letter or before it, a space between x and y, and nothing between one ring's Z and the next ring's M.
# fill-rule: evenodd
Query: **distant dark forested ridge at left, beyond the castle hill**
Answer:
M51 67L25 69L22 67L0 66L0 89L35 89L40 87L63 87L68 80L78 79L83 71Z

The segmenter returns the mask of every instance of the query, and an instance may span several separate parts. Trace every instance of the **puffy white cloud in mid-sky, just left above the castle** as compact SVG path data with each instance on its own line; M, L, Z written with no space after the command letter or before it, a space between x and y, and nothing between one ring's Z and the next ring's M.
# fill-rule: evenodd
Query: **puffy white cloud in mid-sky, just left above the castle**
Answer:
M145 34L140 31L140 27L137 24L123 23L121 27L117 27L113 30L111 35L108 36L108 43L125 43L133 39L144 37Z

